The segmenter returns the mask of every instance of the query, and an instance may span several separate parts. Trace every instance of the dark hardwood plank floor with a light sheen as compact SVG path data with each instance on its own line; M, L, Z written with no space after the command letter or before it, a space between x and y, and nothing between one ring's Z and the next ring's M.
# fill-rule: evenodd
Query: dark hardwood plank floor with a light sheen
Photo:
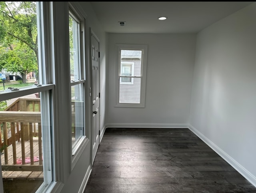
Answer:
M189 129L105 131L85 193L256 193Z

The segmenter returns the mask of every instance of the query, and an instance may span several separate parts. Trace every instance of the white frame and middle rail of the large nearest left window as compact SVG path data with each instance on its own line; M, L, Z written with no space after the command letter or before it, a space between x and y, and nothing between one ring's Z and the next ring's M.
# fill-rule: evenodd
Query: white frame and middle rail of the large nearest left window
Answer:
M53 40L53 4L52 2L37 2L38 23L38 58L39 77L38 85L19 88L13 92L0 92L0 101L40 93L41 119L42 119L42 144L44 182L36 190L37 193L46 193L62 186L57 181L56 169L56 125L54 123L54 40ZM47 38L45 38L47 37ZM47 73L46 73L47 72ZM57 164L58 165L58 164ZM2 175L1 175L2 176ZM1 179L2 180L2 179ZM1 183L2 185L2 183ZM1 189L0 189L1 191Z

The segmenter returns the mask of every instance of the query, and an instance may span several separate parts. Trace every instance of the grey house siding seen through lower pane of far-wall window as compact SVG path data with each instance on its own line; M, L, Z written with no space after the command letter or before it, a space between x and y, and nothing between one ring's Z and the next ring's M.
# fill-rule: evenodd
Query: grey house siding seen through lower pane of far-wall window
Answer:
M140 103L141 78L133 79L133 84L120 84L119 103Z

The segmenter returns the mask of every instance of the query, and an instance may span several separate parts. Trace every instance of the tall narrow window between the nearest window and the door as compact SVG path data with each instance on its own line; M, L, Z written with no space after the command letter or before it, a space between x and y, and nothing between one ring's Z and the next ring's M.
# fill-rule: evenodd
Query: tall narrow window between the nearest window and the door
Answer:
M86 139L85 124L85 64L82 54L84 45L84 20L78 13L69 13L70 86L71 86L71 141L72 156ZM74 158L73 158L74 161Z

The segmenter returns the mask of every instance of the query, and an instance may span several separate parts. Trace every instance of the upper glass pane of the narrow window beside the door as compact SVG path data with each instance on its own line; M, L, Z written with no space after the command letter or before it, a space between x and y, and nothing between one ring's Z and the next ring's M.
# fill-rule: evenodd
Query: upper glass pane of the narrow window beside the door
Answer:
M79 24L69 17L70 80L79 80Z

